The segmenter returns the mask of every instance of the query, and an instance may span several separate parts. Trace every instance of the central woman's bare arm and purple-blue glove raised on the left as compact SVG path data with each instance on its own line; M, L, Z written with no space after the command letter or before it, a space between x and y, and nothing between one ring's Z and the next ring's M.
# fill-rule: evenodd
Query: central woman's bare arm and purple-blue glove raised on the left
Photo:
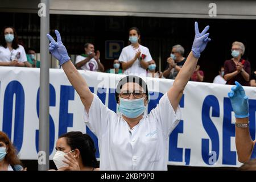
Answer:
M57 42L52 38L51 35L47 34L47 38L51 42L49 44L49 51L57 60L60 61L68 80L71 85L75 88L76 92L79 94L82 104L84 104L85 110L89 112L90 105L93 101L93 94L90 92L85 79L80 75L75 66L72 64L70 57L68 56L67 49L61 42L61 37L59 31L55 30L57 36Z

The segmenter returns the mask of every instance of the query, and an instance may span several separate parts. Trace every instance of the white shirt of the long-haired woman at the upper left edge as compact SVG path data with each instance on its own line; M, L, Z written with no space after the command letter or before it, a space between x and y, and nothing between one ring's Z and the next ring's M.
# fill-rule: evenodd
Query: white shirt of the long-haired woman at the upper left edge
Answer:
M0 62L10 62L13 60L18 60L23 63L27 61L26 52L23 46L19 45L18 48L10 51L8 47L0 46Z

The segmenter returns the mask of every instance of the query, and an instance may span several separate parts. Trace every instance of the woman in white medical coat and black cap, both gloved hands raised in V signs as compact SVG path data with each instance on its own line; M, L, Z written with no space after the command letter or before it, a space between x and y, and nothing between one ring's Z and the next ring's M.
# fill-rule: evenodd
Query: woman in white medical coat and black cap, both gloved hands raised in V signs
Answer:
M209 26L200 33L195 22L195 39L187 61L174 84L150 114L143 115L148 103L146 83L137 76L123 77L116 89L121 115L108 109L92 92L68 56L56 30L49 51L60 61L69 81L79 94L85 110L83 119L97 136L101 170L167 170L168 137L181 118L179 102L185 85L195 71L200 53L210 41Z

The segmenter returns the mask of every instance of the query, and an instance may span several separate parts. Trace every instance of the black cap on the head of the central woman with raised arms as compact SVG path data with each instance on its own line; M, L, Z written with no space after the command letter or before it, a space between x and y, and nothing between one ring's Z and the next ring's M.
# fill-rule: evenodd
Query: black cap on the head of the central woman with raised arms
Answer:
M117 84L117 88L115 89L115 100L118 102L118 94L121 92L121 89L123 85L125 85L127 82L133 82L139 84L144 90L146 90L147 100L149 98L149 93L147 89L147 84L144 80L142 80L141 77L135 76L135 75L128 75L126 77L123 77Z

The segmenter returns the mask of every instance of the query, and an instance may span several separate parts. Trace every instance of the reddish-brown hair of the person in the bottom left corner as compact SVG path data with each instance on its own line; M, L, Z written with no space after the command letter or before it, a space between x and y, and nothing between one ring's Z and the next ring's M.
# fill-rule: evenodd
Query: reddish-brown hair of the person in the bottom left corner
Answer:
M0 131L0 142L5 143L6 147L8 148L7 154L5 156L6 162L9 163L11 166L22 165L17 155L18 152L13 146L13 143L11 143L11 140L3 131Z

